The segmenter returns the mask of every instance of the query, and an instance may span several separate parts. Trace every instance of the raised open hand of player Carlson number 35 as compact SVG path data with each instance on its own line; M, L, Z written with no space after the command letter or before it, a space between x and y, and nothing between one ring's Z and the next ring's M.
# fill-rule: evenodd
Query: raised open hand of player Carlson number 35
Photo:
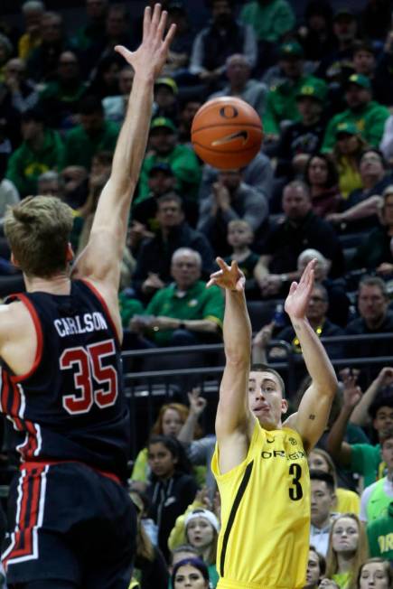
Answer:
M164 36L166 19L167 13L162 11L161 5L154 5L153 14L150 6L146 6L144 33L138 49L129 51L123 45L115 47L115 51L124 57L136 73L146 77L153 76L155 79L162 70L176 30L176 25L172 24Z

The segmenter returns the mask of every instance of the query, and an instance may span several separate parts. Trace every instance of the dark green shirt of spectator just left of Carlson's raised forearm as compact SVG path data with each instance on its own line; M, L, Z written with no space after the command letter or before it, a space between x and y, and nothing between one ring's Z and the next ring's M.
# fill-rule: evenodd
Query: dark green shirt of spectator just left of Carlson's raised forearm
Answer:
M89 136L83 126L78 125L67 133L65 138L67 165L81 165L90 169L94 154L102 151L115 151L120 126L112 121L104 121L102 129L94 136Z

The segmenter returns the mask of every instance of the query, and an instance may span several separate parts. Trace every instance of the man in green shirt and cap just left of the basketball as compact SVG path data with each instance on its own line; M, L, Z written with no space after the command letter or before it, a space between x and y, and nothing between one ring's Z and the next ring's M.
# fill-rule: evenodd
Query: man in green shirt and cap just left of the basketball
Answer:
M170 118L155 117L153 119L150 126L149 150L142 164L136 202L147 197L148 173L157 162L165 162L171 166L177 180L176 189L179 194L187 200L195 201L201 182L201 167L192 149L177 143L176 127Z

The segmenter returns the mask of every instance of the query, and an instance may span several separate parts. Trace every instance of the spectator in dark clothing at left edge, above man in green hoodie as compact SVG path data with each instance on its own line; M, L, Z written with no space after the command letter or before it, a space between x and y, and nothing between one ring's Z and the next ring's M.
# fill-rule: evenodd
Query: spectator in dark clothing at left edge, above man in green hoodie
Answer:
M5 80L0 89L1 108L12 107L17 113L23 113L29 108L34 108L38 102L38 92L32 80L26 79L26 66L24 61L13 58L5 65ZM1 87L0 87L1 88Z

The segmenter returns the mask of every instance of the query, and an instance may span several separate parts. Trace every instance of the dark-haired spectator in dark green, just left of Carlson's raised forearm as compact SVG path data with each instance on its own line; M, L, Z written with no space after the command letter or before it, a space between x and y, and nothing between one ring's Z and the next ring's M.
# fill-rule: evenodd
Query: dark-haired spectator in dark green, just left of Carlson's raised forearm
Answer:
M117 142L117 123L106 121L101 101L95 96L80 100L80 125L65 136L65 166L79 165L90 169L93 155L101 151L113 152Z

